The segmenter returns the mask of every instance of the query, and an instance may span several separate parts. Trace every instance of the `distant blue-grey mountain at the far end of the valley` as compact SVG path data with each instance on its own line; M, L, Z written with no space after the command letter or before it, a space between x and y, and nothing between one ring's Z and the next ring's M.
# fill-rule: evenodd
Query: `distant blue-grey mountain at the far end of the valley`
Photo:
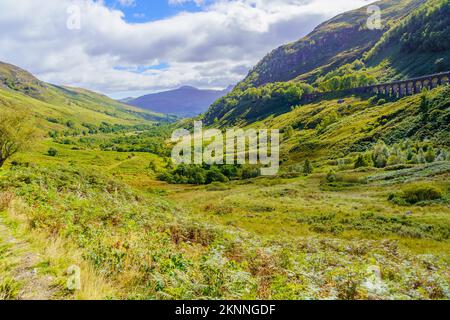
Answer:
M158 113L193 117L205 112L214 101L229 93L231 89L232 87L225 90L201 90L184 86L176 90L148 94L136 99L126 99L124 102Z

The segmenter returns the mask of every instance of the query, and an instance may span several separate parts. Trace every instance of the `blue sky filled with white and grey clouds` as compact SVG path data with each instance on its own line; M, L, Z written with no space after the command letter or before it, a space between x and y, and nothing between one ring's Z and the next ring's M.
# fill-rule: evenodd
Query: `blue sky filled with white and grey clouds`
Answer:
M1 0L0 61L113 98L223 89L368 0Z

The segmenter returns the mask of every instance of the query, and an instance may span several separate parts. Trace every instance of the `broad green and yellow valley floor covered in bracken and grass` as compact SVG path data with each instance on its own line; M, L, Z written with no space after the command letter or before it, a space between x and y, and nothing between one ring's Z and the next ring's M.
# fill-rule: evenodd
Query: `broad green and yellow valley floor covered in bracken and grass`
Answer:
M318 172L185 186L157 181L150 160L49 141L4 169L2 297L450 298L448 162L344 172L364 183ZM388 200L415 178L446 198ZM71 265L81 291L66 287Z

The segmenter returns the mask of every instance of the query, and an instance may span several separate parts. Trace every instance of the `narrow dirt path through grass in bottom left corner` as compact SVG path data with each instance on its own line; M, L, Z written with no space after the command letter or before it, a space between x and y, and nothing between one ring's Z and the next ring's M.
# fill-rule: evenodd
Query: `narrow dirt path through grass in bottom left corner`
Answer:
M18 300L50 300L56 289L53 277L38 274L39 254L26 241L16 239L0 217L0 245L6 246L6 259L12 265L11 277L20 284ZM1 257L0 257L1 258Z

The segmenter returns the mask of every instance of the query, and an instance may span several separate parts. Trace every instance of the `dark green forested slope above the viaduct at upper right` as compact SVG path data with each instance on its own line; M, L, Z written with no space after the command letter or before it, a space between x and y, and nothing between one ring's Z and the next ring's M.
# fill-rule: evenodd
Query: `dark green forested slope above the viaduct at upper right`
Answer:
M450 2L427 1L398 21L366 55L367 66L383 65L387 79L450 70Z

